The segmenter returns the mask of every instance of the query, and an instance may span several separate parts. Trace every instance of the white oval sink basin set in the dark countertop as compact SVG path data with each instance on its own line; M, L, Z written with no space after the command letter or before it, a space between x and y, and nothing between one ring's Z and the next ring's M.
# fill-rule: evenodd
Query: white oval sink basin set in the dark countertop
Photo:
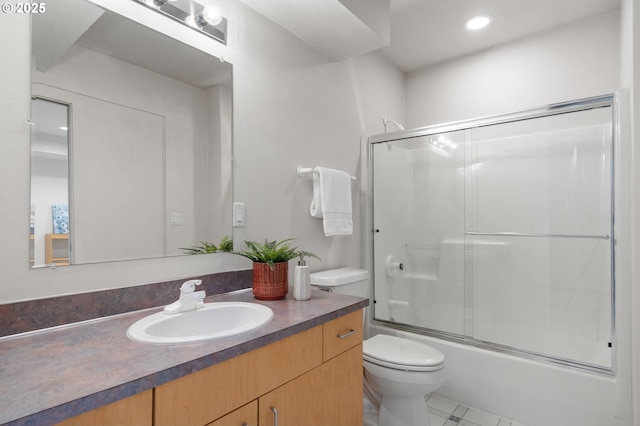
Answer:
M271 318L273 311L257 303L205 303L193 311L151 314L133 323L127 336L146 343L197 342L255 330Z

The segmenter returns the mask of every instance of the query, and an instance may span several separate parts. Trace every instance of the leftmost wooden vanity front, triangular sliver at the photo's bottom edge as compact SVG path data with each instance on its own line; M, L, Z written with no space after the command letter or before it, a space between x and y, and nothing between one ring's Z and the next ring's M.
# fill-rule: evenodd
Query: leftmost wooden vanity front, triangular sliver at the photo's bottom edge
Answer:
M58 426L151 426L153 414L151 390L130 396L104 407L72 417Z

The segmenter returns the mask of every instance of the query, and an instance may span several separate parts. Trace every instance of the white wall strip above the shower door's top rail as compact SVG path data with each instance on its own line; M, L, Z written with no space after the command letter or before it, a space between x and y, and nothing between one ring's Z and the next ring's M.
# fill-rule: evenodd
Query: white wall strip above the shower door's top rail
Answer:
M415 71L407 126L531 109L617 90L617 12Z

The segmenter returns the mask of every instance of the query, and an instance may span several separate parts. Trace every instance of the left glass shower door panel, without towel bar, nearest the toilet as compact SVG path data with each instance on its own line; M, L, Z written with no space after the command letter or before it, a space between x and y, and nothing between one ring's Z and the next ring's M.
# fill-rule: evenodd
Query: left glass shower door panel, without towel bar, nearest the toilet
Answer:
M372 146L376 319L464 334L464 145L455 131Z

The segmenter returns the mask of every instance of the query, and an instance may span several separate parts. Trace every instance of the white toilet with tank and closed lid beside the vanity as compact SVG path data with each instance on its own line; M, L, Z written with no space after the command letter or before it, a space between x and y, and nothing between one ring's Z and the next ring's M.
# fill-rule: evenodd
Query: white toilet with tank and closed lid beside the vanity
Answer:
M352 296L369 296L369 273L340 268L311 274L311 285ZM445 381L444 355L420 342L385 334L364 341L364 388L378 408L378 418L365 424L429 426L424 396ZM377 420L377 421L376 421Z

